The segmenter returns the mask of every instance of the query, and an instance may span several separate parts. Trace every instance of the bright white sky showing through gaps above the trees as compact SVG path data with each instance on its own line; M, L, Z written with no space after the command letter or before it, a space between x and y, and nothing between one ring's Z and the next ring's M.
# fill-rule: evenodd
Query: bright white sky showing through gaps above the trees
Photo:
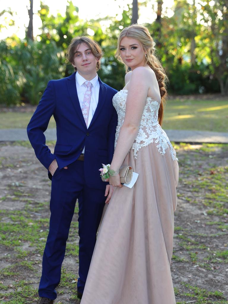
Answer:
M172 16L173 12L171 7L174 3L174 0L163 0L164 5L163 7L166 8L166 14L168 16ZM79 8L79 18L80 19L98 19L104 18L106 16L116 16L117 19L122 18L122 11L123 9L127 9L127 5L132 3L132 0L88 0L88 1L77 1L72 0L75 6ZM138 1L140 3L140 0ZM143 2L143 1L142 1ZM7 5L6 5L7 3ZM66 4L67 0L43 0L43 3L50 7L50 13L54 16L57 15L59 12L60 14L64 15L66 11ZM145 5L139 5L139 19L138 23L142 24L145 22L153 22L156 18L156 11L153 13L152 5L157 4L156 0L150 0ZM10 8L13 17L9 13L5 13L0 17L0 23L5 25L5 28L1 29L0 32L0 39L5 39L6 37L12 36L16 34L19 38L25 37L25 26L28 26L29 23L29 16L27 12L26 5L29 6L29 0L7 0L7 2L1 0L0 1L0 12L4 9ZM42 26L40 17L36 14L37 11L40 9L40 1L33 0L33 34L36 37L39 33L39 27ZM156 9L156 6L155 6ZM75 12L76 13L76 12ZM10 23L10 20L13 19L15 21L15 26L7 26ZM88 33L90 34L90 33Z

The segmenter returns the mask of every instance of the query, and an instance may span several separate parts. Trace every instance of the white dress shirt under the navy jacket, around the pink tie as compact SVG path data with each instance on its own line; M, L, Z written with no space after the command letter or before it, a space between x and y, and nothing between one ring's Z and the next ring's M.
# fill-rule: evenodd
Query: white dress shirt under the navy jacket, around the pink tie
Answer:
M77 92L78 92L78 100L80 103L80 107L82 108L85 91L87 90L87 87L84 85L84 82L87 80L85 78L83 78L78 72L76 72L76 74L75 74L75 80L76 80L76 88L77 88ZM96 76L92 80L90 80L90 82L92 83L92 87L91 87L92 93L91 93L91 100L90 100L90 106L89 106L87 128L89 127L89 125L91 123L91 120L93 118L94 112L95 112L95 110L97 108L97 104L98 104L99 90L100 90L98 75L96 74ZM84 153L84 152L85 152L85 148L83 149L82 153Z

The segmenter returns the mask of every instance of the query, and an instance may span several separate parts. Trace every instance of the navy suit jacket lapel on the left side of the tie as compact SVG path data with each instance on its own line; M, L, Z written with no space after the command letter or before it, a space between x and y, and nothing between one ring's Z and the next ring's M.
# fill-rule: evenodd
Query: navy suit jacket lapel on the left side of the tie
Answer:
M78 100L78 93L77 93L76 81L75 81L75 73L76 72L74 72L71 76L69 76L67 78L67 88L68 88L68 92L69 92L73 107L76 110L79 118L81 119L81 122L86 127L85 119L82 115L80 103L79 103L79 100Z

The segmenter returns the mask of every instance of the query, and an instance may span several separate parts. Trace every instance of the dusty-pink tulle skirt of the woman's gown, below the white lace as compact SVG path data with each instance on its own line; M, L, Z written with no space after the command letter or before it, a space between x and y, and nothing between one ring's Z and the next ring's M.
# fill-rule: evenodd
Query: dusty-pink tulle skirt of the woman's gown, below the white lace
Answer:
M174 304L170 272L178 162L156 143L131 149L124 164L139 174L116 188L98 233L81 304Z

